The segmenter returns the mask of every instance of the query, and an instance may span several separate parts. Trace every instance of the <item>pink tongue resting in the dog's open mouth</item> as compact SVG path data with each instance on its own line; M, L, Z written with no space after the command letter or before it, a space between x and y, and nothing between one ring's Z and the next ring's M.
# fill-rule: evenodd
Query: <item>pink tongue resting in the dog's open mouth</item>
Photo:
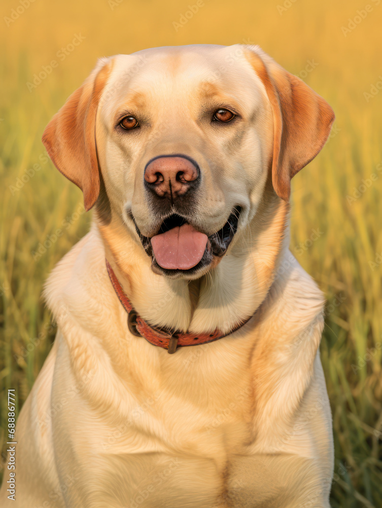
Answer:
M196 231L190 224L184 224L153 236L151 245L159 266L170 270L188 270L203 257L207 240L207 235Z

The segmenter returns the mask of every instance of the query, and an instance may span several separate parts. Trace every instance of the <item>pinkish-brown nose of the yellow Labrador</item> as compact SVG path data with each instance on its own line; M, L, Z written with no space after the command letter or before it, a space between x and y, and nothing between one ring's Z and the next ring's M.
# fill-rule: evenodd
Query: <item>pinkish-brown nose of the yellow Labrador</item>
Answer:
M188 158L170 155L157 157L146 166L147 186L161 198L183 196L199 177L198 167Z

